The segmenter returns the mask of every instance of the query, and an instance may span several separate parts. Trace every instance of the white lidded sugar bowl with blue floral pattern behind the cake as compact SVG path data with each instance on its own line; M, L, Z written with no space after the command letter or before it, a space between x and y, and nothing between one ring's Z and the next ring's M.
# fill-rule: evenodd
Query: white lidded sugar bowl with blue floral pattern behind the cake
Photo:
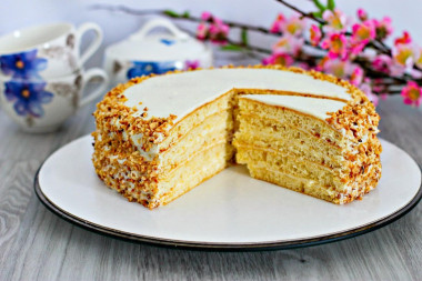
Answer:
M152 32L159 28L167 32ZM112 86L133 77L211 66L212 51L207 44L162 18L147 22L127 40L105 49L104 69Z

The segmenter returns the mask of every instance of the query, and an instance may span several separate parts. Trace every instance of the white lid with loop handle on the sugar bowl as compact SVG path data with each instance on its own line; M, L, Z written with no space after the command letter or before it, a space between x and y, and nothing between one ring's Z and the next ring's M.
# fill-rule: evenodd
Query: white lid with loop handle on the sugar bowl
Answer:
M164 28L169 32L151 33L155 28ZM181 31L171 21L157 18L127 40L108 47L105 56L129 61L174 61L194 60L210 52L203 42Z

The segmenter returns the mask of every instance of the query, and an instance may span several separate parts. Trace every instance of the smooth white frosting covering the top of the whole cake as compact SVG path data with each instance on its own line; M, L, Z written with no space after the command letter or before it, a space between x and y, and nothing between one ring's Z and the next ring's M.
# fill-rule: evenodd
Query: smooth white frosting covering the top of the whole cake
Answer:
M128 99L127 107L137 107L140 116L143 108L148 107L148 118L168 118L174 114L175 122L202 104L212 101L232 89L258 89L297 92L312 96L350 100L345 89L331 83L314 79L311 76L282 71L275 69L208 69L200 71L182 72L170 76L158 76L132 86L124 91ZM277 103L278 99L284 107L294 107L297 110L305 110L305 113L325 119L325 112L339 110L343 102L333 100L312 99L297 97L287 98L277 94L257 94L254 100ZM289 100L289 101L288 101ZM299 102L300 101L300 102ZM142 102L139 106L139 102ZM316 107L314 107L318 103ZM282 106L282 104L281 104ZM325 112L323 113L323 111ZM303 111L304 112L304 111Z

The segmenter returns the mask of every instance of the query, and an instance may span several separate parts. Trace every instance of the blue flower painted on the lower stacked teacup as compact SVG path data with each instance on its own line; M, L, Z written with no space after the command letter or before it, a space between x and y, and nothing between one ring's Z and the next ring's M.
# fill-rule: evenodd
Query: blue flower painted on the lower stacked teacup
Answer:
M6 98L14 102L13 109L19 116L42 117L44 110L41 104L51 102L53 94L44 90L46 82L4 82Z

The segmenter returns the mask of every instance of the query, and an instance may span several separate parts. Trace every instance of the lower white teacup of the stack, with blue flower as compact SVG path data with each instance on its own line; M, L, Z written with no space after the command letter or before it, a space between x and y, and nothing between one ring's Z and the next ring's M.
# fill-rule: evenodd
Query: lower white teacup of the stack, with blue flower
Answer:
M82 96L87 83L101 80L90 93ZM102 96L109 79L102 69L90 69L44 80L0 78L0 106L28 132L58 129L77 109Z

